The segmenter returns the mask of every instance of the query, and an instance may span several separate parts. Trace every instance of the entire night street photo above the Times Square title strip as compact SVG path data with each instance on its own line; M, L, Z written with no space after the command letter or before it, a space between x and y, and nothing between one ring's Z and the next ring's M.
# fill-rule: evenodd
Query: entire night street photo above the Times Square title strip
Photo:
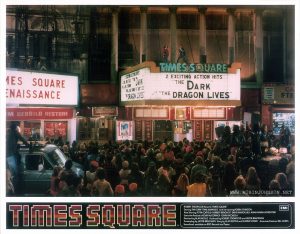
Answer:
M295 6L6 6L6 196L295 196Z

